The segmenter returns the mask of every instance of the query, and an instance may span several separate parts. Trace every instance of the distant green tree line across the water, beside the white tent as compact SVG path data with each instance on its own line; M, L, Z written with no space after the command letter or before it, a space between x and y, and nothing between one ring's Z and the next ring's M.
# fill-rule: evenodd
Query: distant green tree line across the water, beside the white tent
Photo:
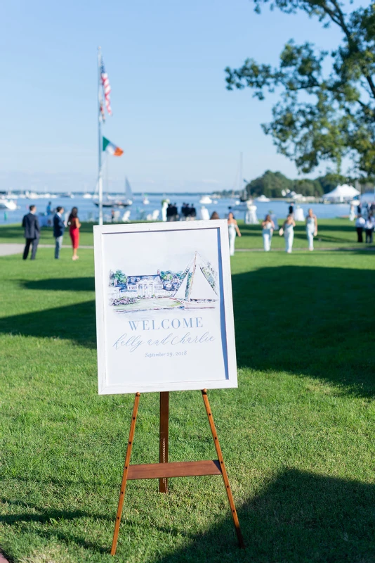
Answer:
M268 198L282 197L282 191L295 191L303 196L321 197L338 184L350 182L347 177L338 174L327 174L316 179L290 179L281 172L267 170L263 176L251 180L246 185L247 196L258 197L262 194Z

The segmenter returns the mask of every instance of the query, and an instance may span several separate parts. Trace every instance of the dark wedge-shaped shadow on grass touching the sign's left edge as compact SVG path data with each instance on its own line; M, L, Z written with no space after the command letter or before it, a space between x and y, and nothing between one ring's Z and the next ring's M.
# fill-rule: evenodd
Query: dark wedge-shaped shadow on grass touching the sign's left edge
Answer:
M68 339L81 346L96 348L95 301L3 317L0 332Z

